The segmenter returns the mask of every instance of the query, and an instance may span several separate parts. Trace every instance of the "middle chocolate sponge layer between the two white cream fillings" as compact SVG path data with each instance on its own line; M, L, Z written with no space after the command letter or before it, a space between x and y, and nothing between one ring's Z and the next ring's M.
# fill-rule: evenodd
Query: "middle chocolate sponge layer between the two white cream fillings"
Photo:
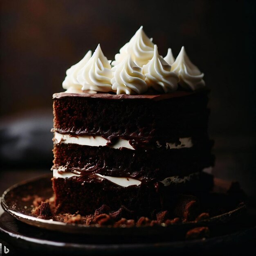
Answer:
M187 176L213 165L212 141L205 140L192 148L151 150L115 149L108 146L57 144L54 146L54 166L82 174L99 173L114 177L134 177L145 182L170 176Z

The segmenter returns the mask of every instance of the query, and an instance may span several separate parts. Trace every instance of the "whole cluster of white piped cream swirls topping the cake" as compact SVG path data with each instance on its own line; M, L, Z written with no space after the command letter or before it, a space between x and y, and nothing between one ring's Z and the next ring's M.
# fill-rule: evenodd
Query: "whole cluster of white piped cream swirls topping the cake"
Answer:
M110 62L100 45L93 55L88 51L79 63L67 70L62 83L65 92L144 94L149 88L153 88L161 93L168 93L177 90L178 84L181 88L192 91L205 85L204 74L191 63L184 47L176 60L171 48L168 48L167 55L163 58L142 26L121 47L119 54L115 55L112 68Z

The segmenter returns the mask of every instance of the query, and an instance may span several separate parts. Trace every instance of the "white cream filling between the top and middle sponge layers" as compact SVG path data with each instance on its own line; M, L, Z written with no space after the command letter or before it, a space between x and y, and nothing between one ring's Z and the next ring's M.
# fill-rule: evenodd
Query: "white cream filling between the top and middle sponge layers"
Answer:
M180 144L166 142L166 149L179 149L179 148L191 148L193 147L191 137L180 138ZM64 144L78 144L84 146L109 146L110 148L129 148L135 150L126 139L118 139L114 145L107 145L108 140L104 139L101 136L92 136L92 135L83 135L83 136L74 136L69 134L60 134L54 132L54 143L64 143ZM156 142L157 148L162 147L159 144L159 141Z

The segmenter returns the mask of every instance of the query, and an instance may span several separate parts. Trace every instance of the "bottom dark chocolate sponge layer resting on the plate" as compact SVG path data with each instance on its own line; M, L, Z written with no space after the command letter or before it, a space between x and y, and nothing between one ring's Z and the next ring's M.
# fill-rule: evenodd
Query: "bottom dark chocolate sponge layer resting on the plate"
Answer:
M103 204L112 211L121 206L138 216L152 217L156 211L172 211L177 193L196 193L209 191L213 187L213 178L200 173L195 179L184 183L164 186L161 182L140 186L122 187L107 180L85 182L81 177L52 178L55 205L60 213L93 214Z

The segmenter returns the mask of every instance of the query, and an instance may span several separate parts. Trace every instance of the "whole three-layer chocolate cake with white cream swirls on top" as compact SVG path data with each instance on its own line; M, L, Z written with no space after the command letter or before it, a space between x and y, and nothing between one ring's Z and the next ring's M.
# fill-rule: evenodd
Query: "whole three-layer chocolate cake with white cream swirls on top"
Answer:
M110 63L98 45L53 96L57 211L153 218L180 193L209 191L209 90L184 47L162 58L141 27Z

